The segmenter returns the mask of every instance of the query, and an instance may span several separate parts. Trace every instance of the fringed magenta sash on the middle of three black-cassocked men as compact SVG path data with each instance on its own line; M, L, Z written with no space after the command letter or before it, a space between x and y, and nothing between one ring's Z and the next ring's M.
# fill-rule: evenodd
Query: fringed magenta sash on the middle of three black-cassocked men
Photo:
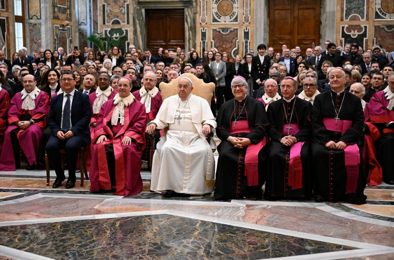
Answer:
M287 135L288 125L283 125L282 135ZM299 132L298 123L291 123L290 135L295 135ZM289 179L288 185L292 187L292 190L302 188L302 163L301 163L301 148L304 142L296 142L290 147L290 159L289 159Z

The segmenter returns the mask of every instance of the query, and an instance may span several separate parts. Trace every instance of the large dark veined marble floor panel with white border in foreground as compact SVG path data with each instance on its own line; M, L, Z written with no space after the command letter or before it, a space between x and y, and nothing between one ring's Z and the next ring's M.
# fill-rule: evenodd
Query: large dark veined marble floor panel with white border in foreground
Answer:
M0 244L55 259L261 259L355 249L166 214L4 226Z

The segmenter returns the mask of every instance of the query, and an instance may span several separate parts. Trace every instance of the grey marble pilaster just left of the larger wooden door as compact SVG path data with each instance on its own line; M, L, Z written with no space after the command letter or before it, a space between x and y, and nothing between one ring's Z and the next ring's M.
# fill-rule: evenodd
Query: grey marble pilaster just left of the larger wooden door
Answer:
M256 0L254 6L255 22L254 22L254 41L249 49L255 49L260 43L264 43L268 47L269 33L269 1ZM249 50L247 50L249 51ZM245 52L246 53L246 52Z

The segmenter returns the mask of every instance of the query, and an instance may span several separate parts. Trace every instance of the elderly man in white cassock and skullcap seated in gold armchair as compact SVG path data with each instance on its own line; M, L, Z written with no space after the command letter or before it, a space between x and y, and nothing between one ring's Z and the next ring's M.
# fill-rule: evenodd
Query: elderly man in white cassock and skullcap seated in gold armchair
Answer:
M206 140L216 122L208 102L191 94L192 82L180 78L178 95L164 99L147 133L163 129L153 155L151 190L165 197L214 191L215 161Z

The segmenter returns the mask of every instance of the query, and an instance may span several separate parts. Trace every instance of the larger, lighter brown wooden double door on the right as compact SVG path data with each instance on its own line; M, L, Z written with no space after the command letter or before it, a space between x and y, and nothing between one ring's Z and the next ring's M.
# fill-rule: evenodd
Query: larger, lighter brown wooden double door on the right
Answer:
M335 28L333 28L335 30ZM301 47L301 54L320 45L320 0L269 0L269 46L282 52Z

